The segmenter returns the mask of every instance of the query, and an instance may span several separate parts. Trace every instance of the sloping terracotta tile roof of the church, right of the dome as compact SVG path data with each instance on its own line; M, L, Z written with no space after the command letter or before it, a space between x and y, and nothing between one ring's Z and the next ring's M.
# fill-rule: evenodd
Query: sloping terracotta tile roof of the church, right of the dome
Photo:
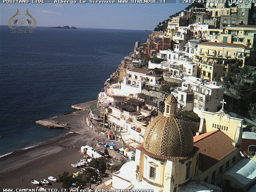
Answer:
M233 140L222 131L202 134L196 139L194 146L199 148L199 169L204 172L237 148L232 145Z

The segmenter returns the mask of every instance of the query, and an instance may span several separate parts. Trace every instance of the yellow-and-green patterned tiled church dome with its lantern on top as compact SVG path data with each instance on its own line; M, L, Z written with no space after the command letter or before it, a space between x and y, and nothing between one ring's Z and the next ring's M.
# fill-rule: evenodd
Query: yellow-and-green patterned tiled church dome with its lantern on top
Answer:
M176 98L169 96L165 104L170 105L170 108L177 105ZM174 110L176 113L176 106ZM193 151L192 131L184 120L177 118L176 114L170 111L152 120L146 128L143 150L151 154L150 156L168 159L185 157Z

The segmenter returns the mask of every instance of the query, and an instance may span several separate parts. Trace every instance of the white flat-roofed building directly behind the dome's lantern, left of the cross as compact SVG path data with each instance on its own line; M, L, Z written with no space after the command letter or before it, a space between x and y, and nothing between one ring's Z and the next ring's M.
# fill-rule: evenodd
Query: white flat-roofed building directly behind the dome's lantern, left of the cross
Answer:
M210 112L217 112L220 109L224 88L203 82L193 76L184 77L184 80L182 86L172 92L178 98L178 108L187 111L196 108ZM191 93L194 95L192 103L189 96Z

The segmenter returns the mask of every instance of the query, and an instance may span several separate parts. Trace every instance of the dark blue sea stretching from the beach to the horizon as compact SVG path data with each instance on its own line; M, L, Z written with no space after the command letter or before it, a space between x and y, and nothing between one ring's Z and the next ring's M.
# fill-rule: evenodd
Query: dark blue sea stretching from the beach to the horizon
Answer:
M66 134L35 121L95 100L135 41L145 42L148 34L48 27L11 34L0 26L0 155Z

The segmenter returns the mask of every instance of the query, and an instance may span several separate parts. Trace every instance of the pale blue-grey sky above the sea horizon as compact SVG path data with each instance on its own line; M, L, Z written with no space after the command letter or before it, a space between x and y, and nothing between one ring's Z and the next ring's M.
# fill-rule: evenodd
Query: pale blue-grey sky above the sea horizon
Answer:
M0 0L0 25L16 13L28 12L37 26L75 26L77 28L108 28L154 30L159 22L183 10L189 4L7 4ZM79 2L79 0L77 0ZM178 2L178 1L177 1Z

